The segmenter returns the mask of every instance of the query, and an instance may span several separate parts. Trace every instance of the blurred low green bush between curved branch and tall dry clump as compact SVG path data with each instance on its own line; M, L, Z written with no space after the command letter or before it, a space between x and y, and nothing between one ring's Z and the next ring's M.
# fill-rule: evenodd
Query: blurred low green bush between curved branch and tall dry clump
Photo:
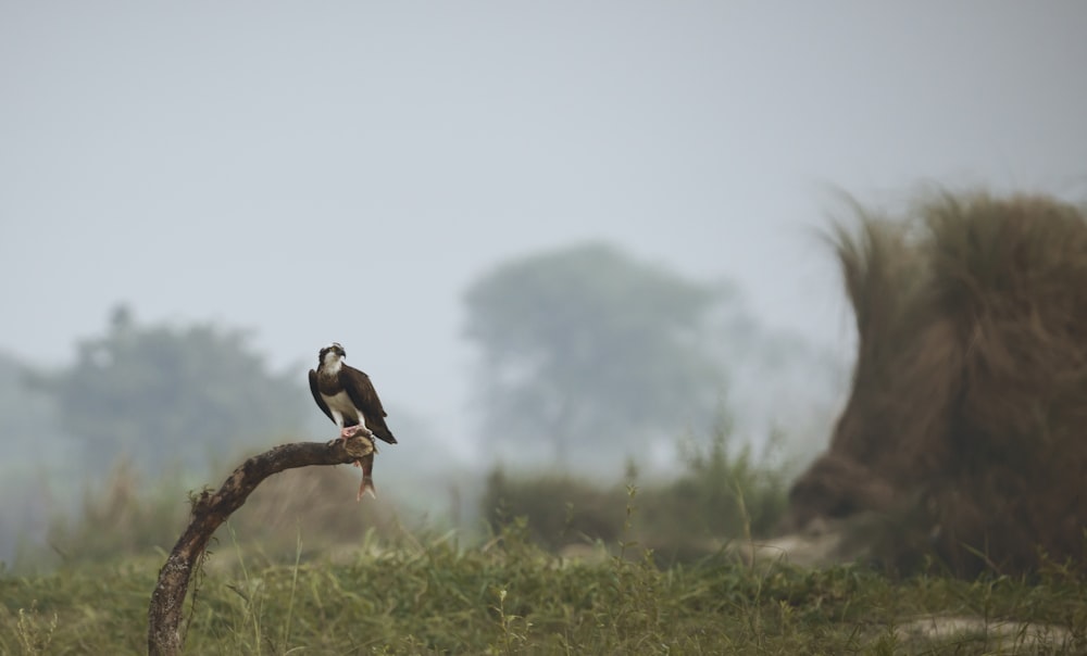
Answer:
M634 464L625 480L612 482L562 474L515 476L497 467L480 510L496 532L525 521L530 538L552 551L623 541L652 548L661 562L696 559L730 541L772 533L787 508L786 466L775 458L780 436L758 456L730 438L724 425L705 443L687 440L683 472L645 485L638 484Z

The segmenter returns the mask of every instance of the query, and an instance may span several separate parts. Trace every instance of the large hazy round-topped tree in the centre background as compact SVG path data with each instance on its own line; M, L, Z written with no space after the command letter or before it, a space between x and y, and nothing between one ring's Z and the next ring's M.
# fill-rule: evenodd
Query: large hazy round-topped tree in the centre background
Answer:
M465 294L490 438L627 446L708 425L723 393L710 329L732 298L603 243L500 265Z

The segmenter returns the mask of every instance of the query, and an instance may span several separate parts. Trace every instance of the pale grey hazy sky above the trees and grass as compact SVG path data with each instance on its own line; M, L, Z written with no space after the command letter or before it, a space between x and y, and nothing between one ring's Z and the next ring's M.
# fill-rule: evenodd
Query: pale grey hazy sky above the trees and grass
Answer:
M65 362L124 301L276 365L340 341L459 424L464 288L585 237L839 343L826 186L1087 197L1085 35L1078 0L0 0L0 349Z

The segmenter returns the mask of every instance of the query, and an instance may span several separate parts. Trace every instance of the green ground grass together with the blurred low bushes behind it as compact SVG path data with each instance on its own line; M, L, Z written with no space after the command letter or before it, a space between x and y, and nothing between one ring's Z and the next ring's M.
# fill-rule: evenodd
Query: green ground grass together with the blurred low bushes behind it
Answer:
M634 484L600 487L497 470L482 534L405 529L388 500L345 512L349 471L277 475L216 533L185 609L186 652L1087 649L1087 581L1071 570L963 580L752 563L780 519L784 472L729 447L728 431L685 464L644 488L634 470ZM158 569L185 521L182 487L145 485L122 464L58 520L52 550L0 564L0 654L145 653Z

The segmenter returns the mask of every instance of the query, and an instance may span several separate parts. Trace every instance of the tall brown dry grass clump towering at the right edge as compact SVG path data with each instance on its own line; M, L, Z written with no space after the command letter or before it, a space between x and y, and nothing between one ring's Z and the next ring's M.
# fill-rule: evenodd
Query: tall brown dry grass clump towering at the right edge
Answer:
M852 393L791 515L876 510L877 553L961 575L1083 566L1087 215L940 193L834 235L858 330Z

